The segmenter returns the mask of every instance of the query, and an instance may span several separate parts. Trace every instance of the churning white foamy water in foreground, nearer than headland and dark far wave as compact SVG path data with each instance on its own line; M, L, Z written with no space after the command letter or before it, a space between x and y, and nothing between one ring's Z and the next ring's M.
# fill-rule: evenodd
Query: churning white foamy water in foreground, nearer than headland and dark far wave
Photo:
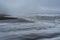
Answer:
M0 23L1 40L57 40L60 25L52 22ZM56 25L57 24L57 25ZM56 25L56 26L55 26Z

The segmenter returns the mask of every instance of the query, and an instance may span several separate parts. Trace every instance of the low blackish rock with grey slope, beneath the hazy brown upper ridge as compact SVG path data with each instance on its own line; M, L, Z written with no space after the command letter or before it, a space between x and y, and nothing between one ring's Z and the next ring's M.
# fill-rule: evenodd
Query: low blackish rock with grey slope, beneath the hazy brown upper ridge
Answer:
M9 22L9 23L33 23L33 21L26 20L23 18L14 18L14 17L0 17L0 23Z

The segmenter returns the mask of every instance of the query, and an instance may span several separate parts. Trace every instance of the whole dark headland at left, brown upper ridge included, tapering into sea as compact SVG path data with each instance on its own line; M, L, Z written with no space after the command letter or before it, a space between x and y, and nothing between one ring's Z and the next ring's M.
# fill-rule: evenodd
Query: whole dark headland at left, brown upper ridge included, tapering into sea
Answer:
M0 14L0 22L33 23L33 21L30 21L30 20L27 20L27 19L11 17L11 16L5 15L5 14Z

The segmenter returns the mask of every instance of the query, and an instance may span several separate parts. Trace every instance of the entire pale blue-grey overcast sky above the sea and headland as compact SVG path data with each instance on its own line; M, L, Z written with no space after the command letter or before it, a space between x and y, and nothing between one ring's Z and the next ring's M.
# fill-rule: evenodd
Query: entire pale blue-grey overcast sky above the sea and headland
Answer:
M15 15L60 13L60 0L0 0L0 10Z

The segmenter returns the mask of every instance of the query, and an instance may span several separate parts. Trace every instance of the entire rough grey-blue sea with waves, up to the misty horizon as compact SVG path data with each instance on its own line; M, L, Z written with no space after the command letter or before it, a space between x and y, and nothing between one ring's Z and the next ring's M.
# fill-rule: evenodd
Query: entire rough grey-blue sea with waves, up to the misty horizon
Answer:
M0 40L60 40L60 16L35 14L0 20Z

